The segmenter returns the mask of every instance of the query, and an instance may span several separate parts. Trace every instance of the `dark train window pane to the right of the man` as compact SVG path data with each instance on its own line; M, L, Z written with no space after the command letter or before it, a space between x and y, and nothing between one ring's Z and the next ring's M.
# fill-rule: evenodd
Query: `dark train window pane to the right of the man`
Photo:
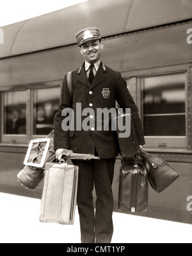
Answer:
M185 137L185 74L141 78L141 89L145 136ZM159 145L168 146L168 140L162 142Z

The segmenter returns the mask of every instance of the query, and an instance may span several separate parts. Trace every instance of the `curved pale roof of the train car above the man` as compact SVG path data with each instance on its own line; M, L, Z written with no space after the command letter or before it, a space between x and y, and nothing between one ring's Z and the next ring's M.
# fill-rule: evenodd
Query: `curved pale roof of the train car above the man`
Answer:
M96 26L102 37L192 18L191 0L89 0L2 27L0 58L76 44L76 33Z

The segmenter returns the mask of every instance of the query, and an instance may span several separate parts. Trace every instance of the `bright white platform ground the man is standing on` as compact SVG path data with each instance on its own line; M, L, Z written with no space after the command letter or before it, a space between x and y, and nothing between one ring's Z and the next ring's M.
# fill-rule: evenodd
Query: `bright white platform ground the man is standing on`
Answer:
M40 199L0 193L1 243L80 243L79 215L74 225L40 223ZM192 217L192 216L191 216ZM192 225L113 213L112 243L191 243Z

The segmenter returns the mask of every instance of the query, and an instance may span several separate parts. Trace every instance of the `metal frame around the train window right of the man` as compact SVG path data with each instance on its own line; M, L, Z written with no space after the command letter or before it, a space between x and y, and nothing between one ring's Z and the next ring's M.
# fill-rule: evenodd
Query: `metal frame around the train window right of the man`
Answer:
M177 66L169 66L169 67L159 67L159 68L150 68L150 69L141 69L141 70L133 70L133 71L127 71L122 73L122 76L125 80L129 79L136 79L136 83L134 85L135 89L132 89L135 93L136 97L136 105L138 106L141 122L143 125L143 105L142 105L142 90L141 90L141 79L147 78L147 77L154 77L159 75L174 75L177 73L184 73L185 74L185 97L186 97L186 105L185 105L185 111L186 111L186 136L145 136L145 147L148 149L150 148L156 148L156 149L183 149L183 148L191 148L192 147L192 136L191 136L191 119L192 114L190 113L190 101L189 101L189 93L192 94L192 69L191 64L180 64ZM127 81L127 84L129 82ZM128 86L127 86L128 87ZM129 87L128 87L129 89ZM190 95L191 95L190 94ZM192 98L192 96L191 96ZM191 111L192 112L192 111ZM179 140L175 140L175 139ZM154 140L155 139L155 140Z

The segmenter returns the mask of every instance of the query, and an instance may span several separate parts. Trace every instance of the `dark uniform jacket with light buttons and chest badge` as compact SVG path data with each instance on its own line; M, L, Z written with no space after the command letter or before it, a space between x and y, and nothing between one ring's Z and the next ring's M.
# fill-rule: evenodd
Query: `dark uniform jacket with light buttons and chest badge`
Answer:
M93 79L92 85L86 77L84 64L81 68L72 73L73 96L70 97L67 88L67 77L65 76L63 87L61 90L60 108L54 118L54 149L70 149L75 153L94 154L95 149L100 158L113 158L118 155L118 140L116 131L111 131L111 120L109 120L109 131L97 131L97 108L115 108L116 102L122 108L131 108L132 118L138 135L140 145L145 144L141 120L138 115L138 108L132 100L125 80L121 74L113 71L113 69L104 66L100 62L99 69ZM104 91L107 96L104 97ZM116 102L115 102L116 100ZM93 109L95 113L95 130L92 131L92 124L88 131L77 131L76 114L79 114L79 105L81 103L81 111L85 108ZM63 131L61 123L66 116L62 116L61 112L65 108L72 108L74 111L74 130ZM87 116L82 116L81 121ZM79 116L78 116L79 117ZM87 121L87 119L86 119ZM103 124L104 120L99 121ZM129 145L127 145L129 147Z

